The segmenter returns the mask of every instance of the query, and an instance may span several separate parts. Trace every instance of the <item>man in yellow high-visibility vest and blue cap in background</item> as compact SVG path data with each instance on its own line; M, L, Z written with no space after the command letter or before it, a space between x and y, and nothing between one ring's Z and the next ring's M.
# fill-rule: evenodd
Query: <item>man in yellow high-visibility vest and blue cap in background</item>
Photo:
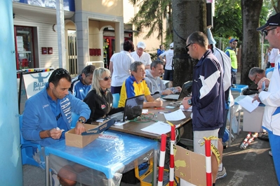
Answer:
M232 85L236 84L236 73L237 73L237 57L236 57L236 46L238 40L236 38L232 38L229 40L229 47L225 49L225 53L232 60Z

